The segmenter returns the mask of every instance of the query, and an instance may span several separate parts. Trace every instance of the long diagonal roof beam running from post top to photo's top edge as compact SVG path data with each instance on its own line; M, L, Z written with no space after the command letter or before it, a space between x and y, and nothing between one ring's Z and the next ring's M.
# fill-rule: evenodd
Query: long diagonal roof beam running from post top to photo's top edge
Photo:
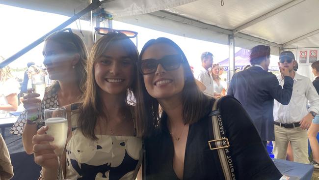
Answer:
M252 21L250 21L250 22L248 22L246 24L243 24L243 25L235 28L233 30L233 32L234 32L234 34L236 34L236 33L240 32L241 30L244 30L244 29L246 29L246 28L248 28L248 27L250 27L252 25L255 25L255 24L257 24L257 23L259 23L259 22L261 22L261 21L263 21L263 20L265 20L265 19L267 19L267 18L269 18L271 16L274 16L274 15L276 15L276 14L278 14L278 13L280 13L280 12L286 10L286 9L289 9L292 6L297 5L297 4L299 4L300 2L303 2L303 1L305 1L305 0L292 0L292 1L288 2L287 4L284 4L284 5L276 8L276 9L274 9L272 11L269 11L266 14L254 19L254 20L252 20Z

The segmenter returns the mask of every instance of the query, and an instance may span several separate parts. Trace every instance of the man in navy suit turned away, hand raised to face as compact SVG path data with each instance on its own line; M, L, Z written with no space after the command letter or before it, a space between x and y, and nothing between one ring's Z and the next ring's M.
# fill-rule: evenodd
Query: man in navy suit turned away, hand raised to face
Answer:
M280 68L285 84L279 85L274 74L268 72L270 47L258 45L251 49L252 67L234 74L227 95L234 96L250 115L263 143L274 141L274 99L287 105L292 97L293 79L287 68Z

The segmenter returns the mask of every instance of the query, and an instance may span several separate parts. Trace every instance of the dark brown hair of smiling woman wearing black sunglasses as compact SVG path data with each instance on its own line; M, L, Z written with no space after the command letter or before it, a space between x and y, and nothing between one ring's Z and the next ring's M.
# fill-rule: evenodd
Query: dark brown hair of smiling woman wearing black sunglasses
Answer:
M207 105L210 98L198 89L186 56L175 42L165 37L149 40L140 53L139 61L147 48L154 44L166 44L175 48L177 52L182 55L184 77L186 78L182 90L182 114L184 123L193 123L200 120L207 112ZM147 137L151 135L156 126L160 125L160 114L165 112L159 112L159 102L147 92L143 74L140 72L137 74L137 89L136 132L138 136Z

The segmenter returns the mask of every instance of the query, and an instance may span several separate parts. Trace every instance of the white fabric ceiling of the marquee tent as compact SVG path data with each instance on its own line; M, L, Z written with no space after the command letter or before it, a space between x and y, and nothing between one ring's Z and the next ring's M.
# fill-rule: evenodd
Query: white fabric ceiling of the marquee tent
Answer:
M79 12L88 2L0 0L2 4L68 16L73 15L74 9ZM236 46L249 49L256 44L270 44L275 55L278 55L279 48L319 47L319 0L224 0L223 6L220 2L112 0L102 7L112 13L115 20L222 44L228 43L228 35L233 30L243 27L235 33ZM156 14L163 12L159 10L175 17L170 19ZM311 35L305 36L309 33Z

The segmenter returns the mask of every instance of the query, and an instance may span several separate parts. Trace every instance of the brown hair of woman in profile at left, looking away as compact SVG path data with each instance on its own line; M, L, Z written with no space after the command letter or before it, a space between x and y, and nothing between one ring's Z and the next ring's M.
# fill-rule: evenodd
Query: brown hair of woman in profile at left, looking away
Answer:
M45 41L54 41L61 46L66 53L79 54L79 62L75 65L75 70L77 74L77 81L79 84L79 89L81 95L84 93L86 88L86 79L87 79L87 50L82 41L82 39L75 33L67 31L58 31L49 35ZM53 89L59 89L58 81L54 81L52 86L49 87L48 91ZM79 97L82 98L82 97Z

